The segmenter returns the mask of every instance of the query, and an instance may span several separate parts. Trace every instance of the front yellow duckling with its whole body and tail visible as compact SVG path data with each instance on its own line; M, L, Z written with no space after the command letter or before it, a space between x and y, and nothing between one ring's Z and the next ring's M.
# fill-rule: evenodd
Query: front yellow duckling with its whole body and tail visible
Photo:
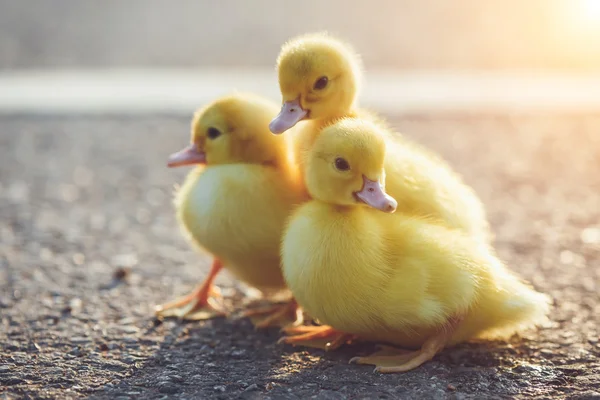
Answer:
M306 166L312 200L290 218L281 251L295 299L326 325L287 329L299 335L282 342L351 335L416 349L351 360L404 372L445 346L544 321L548 298L488 246L432 217L395 212L385 190L386 143L380 127L352 118L315 140Z

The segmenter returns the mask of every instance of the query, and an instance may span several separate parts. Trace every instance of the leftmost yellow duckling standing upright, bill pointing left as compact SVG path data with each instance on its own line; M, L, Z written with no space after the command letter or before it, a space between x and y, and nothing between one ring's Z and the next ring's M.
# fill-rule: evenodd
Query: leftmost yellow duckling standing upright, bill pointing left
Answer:
M176 194L175 208L185 236L214 261L196 290L158 306L159 315L222 315L213 296L213 281L222 268L265 294L285 291L281 237L287 217L306 193L288 140L267 128L276 113L276 104L255 95L217 99L195 113L191 144L169 157L169 167L197 165ZM263 315L256 326L265 327L296 311L292 301L245 315Z

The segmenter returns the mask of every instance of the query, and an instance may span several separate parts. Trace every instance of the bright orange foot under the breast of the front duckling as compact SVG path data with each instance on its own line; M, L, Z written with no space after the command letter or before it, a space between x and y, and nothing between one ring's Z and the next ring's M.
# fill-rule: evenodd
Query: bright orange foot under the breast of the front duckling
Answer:
M340 332L327 325L296 326L282 329L284 336L277 343L301 345L322 350L335 350L344 343L355 339L354 335Z

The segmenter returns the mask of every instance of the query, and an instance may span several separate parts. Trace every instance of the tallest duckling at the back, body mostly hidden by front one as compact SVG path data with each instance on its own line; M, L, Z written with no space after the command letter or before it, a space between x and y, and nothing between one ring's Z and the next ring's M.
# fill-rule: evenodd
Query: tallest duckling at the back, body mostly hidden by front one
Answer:
M296 37L277 59L283 106L269 128L281 134L298 124L294 148L301 174L323 128L342 117L369 119L385 127L375 113L356 108L362 66L352 48L326 34ZM487 217L473 190L437 155L386 127L386 186L404 213L433 216L489 242Z

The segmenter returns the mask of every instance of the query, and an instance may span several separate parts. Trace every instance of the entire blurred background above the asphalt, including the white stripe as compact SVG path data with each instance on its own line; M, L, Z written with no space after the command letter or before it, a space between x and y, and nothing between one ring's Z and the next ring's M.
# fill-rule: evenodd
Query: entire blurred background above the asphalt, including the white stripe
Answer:
M327 30L397 112L600 108L600 0L0 0L0 110L188 115L231 90L279 100L274 62Z

